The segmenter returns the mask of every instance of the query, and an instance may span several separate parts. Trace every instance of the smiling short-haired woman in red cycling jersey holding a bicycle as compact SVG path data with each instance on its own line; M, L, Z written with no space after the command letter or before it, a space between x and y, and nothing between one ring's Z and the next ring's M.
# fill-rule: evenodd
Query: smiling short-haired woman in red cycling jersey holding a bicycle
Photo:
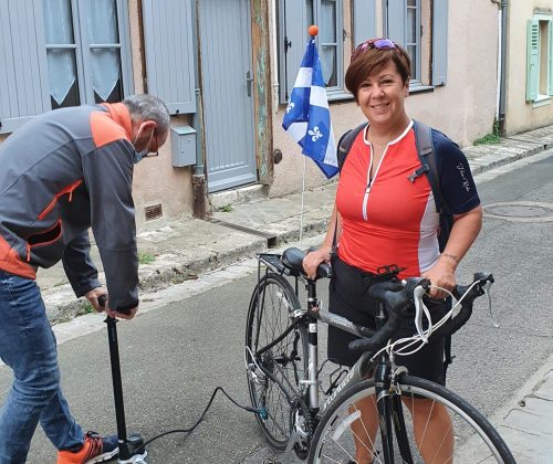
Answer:
M374 320L367 320L369 317L358 308L372 304L366 297L371 273L380 266L397 264L405 267L399 274L401 278L422 275L432 285L451 289L456 284L456 268L482 222L480 200L465 155L445 135L432 129L435 147L439 146L440 187L453 214L449 240L439 252L439 214L428 179L426 176L414 182L408 179L420 167L413 120L404 105L409 77L409 56L390 40L373 39L355 49L345 82L368 125L356 137L342 167L324 243L303 262L307 275L314 276L320 263L330 262L336 236L338 249L333 259L335 277L331 283L330 310L368 327L374 327ZM430 296L442 300L446 295L432 289ZM406 321L397 338L409 337L415 331L414 324ZM353 339L349 334L330 327L328 358L353 366L358 359L347 349ZM444 339L436 337L415 355L396 357L396 363L406 366L409 373L441 384L445 383L442 360ZM355 458L358 463L371 463L373 454L368 444L378 426L376 405L372 399L356 407L362 411L364 423L352 424L356 437ZM425 441L418 440L425 462L448 462L453 435L447 411L420 399L415 401L414 409L414 418L425 418L422 425L415 421L417 439L425 433ZM428 416L430 421L426 424ZM426 431L421 430L425 428Z

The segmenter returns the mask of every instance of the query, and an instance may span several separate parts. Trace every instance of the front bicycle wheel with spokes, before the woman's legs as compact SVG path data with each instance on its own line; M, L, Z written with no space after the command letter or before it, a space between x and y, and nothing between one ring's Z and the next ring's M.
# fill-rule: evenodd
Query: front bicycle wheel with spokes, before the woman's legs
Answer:
M393 401L394 396L397 396L396 399L401 399L401 401L397 401L393 416L394 463L425 463L415 440L414 420L417 420L419 424L417 430L418 445L420 449L426 447L427 453L430 447L430 457L427 454L427 462L447 462L448 464L515 463L507 444L488 420L451 391L428 380L409 376L401 378L400 386L393 390ZM309 456L310 463L357 462L355 461L355 437L351 429L352 423L357 420L359 422L356 424L356 430L358 432L361 428L363 430L361 435L357 435L357 440L363 441L365 453L373 454L374 463L388 463L384 457L380 433L376 433L374 440L368 439L368 419L364 418L355 407L364 399L373 401L374 394L374 379L364 380L342 393L341 398L331 404L313 437ZM417 399L414 399L414 394ZM419 398L430 401L428 403L430 410L434 410L437 404L444 405L447 410L452 428L445 428L444 435L426 434L427 418L420 414L417 418L411 416L409 407L413 409L413 402L418 401ZM399 413L397 413L398 411ZM405 428L401 429L403 433L398 433L398 428L401 426L401 416ZM400 436L398 437L398 435ZM432 444L430 444L431 441ZM403 455L399 451L401 443L404 443L404 450L405 447L410 450L404 451ZM452 453L450 453L451 449ZM445 450L447 453L444 453ZM441 456L446 454L446 457L437 460L436 454L438 453L442 453ZM408 456L409 454L410 456Z

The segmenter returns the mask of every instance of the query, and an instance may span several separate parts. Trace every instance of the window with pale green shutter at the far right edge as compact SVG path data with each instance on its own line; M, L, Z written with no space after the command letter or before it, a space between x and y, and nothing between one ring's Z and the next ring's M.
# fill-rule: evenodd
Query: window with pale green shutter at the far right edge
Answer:
M526 101L553 96L553 17L538 15L528 22Z

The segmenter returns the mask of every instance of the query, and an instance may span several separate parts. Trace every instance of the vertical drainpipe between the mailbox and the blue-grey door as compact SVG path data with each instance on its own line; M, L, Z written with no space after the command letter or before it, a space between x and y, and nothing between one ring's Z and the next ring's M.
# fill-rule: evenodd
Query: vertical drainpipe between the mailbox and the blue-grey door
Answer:
M196 113L191 116L191 125L196 130L196 165L194 166L192 173L192 191L194 191L194 217L199 219L206 219L208 213L208 199L207 199L207 188L206 188L206 169L204 165L204 101L201 98L200 88L200 50L198 41L198 1L196 1L196 8L192 10L192 38L194 38L194 76L197 88L196 93Z

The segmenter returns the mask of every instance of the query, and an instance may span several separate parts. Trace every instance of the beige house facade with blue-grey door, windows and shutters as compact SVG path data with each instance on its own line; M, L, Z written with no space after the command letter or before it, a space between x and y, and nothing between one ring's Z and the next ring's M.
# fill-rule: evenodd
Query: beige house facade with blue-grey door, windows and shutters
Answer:
M532 2L518 8L542 14L540 0ZM499 3L1 0L0 143L45 110L147 92L167 103L171 135L159 158L136 167L140 229L201 217L218 192L243 186L268 196L298 191L304 158L281 124L316 23L336 139L363 120L344 87L355 45L389 36L414 63L408 114L468 145L491 131L498 113ZM327 182L312 162L306 168L307 187Z

